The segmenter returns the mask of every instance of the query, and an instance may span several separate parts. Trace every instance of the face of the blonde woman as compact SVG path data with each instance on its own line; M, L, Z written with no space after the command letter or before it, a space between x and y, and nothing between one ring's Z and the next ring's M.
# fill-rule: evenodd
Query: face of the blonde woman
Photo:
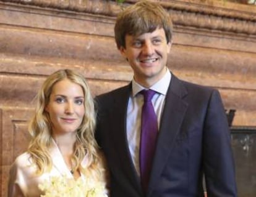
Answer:
M63 79L53 86L45 110L53 126L53 134L75 132L85 115L83 89L69 79Z

